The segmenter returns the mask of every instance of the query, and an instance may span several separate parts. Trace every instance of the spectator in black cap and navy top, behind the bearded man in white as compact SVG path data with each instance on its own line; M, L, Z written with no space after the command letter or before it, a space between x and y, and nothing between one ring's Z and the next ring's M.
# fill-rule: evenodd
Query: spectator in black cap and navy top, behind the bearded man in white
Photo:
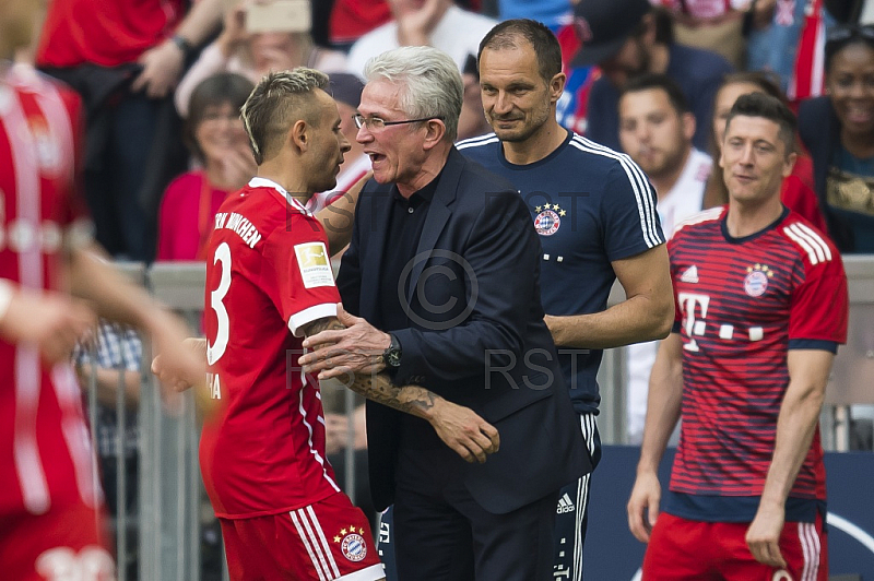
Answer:
M574 67L598 64L603 75L589 93L587 137L619 149L619 91L635 76L664 73L683 88L695 114L693 143L707 147L713 95L731 64L714 52L677 45L671 19L648 0L586 0L575 9L582 48Z

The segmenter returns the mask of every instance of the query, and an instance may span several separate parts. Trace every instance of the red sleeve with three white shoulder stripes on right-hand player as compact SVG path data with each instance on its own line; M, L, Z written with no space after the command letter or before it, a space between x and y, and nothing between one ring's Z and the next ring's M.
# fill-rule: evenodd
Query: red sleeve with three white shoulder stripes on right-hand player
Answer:
M790 303L790 348L804 345L798 342L846 343L849 294L838 250L802 222L790 225L787 234L795 236L804 268L804 278Z

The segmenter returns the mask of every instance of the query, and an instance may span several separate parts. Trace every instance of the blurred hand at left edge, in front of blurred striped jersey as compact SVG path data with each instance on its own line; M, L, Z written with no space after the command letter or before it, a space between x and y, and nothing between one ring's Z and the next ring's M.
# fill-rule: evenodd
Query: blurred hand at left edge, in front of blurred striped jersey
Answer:
M13 342L33 343L48 365L70 359L75 344L97 327L97 316L80 300L64 295L17 289L0 320L0 334Z

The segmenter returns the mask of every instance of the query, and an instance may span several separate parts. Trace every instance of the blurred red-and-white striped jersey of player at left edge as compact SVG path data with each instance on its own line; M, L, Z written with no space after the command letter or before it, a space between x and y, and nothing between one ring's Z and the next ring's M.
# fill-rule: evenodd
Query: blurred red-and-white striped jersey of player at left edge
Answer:
M60 288L62 244L82 239L79 128L75 93L0 63L0 277L21 287ZM72 368L0 340L0 520L97 506L92 461Z

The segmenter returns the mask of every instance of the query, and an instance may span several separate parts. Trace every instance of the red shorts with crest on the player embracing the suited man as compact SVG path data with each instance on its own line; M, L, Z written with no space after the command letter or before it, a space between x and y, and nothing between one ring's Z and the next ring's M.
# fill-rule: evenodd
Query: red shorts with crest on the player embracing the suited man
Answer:
M344 494L281 514L218 521L232 580L385 578L370 523Z

